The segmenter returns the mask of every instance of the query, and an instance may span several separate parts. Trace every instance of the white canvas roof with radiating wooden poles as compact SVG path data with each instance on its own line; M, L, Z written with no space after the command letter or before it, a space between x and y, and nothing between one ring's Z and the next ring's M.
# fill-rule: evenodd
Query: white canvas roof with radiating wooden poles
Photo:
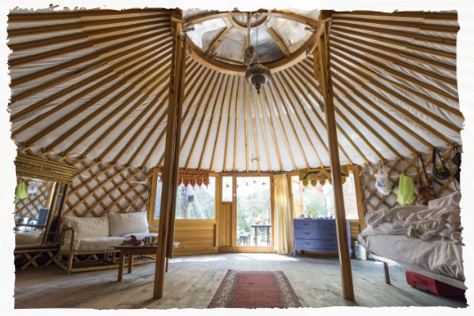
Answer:
M277 3L287 10L291 1ZM474 2L331 5L341 162L467 146L474 135ZM0 0L0 143L59 160L162 165L171 6L152 0ZM312 62L308 54L274 73L258 96L242 76L187 59L179 167L328 166Z

